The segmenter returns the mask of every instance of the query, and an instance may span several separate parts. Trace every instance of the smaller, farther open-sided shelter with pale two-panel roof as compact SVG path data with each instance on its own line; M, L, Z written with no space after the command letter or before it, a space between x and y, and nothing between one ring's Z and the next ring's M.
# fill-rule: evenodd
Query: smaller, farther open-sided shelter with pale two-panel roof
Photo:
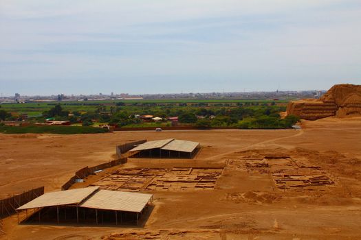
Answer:
M200 143L177 139L149 141L129 150L133 157L140 158L193 158Z

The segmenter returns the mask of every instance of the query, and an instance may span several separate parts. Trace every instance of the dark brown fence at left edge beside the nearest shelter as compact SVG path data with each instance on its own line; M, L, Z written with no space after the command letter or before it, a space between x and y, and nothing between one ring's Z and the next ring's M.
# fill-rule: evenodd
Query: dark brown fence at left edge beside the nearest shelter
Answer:
M19 206L23 206L23 204L26 204L43 194L44 187L39 187L37 189L25 191L21 194L13 195L12 197L0 200L0 218L16 213Z

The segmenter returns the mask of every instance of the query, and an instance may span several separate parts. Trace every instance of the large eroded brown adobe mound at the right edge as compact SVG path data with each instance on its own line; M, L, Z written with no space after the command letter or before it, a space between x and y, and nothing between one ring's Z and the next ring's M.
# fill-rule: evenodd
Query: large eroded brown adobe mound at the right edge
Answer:
M360 116L361 85L338 84L330 88L320 99L290 101L287 115L296 115L307 120L331 116Z

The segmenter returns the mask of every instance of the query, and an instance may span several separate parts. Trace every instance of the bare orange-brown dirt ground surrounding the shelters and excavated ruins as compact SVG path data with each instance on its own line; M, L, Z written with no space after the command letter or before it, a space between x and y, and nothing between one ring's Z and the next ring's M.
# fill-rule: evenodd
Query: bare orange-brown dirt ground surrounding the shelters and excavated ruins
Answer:
M14 215L3 219L6 235L0 239L360 239L361 118L303 121L302 126L0 134L0 197L39 186L59 190L74 171L105 163L114 158L116 145L141 139L197 141L202 149L193 160L129 158L74 187L127 169L222 168L215 186L205 191L148 189L154 208L139 228L18 225Z

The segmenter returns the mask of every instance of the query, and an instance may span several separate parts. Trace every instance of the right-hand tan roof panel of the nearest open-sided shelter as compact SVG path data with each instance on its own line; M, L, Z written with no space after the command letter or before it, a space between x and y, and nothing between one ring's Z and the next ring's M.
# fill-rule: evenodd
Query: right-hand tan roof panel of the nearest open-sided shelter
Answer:
M152 194L100 190L81 204L84 208L140 213Z

